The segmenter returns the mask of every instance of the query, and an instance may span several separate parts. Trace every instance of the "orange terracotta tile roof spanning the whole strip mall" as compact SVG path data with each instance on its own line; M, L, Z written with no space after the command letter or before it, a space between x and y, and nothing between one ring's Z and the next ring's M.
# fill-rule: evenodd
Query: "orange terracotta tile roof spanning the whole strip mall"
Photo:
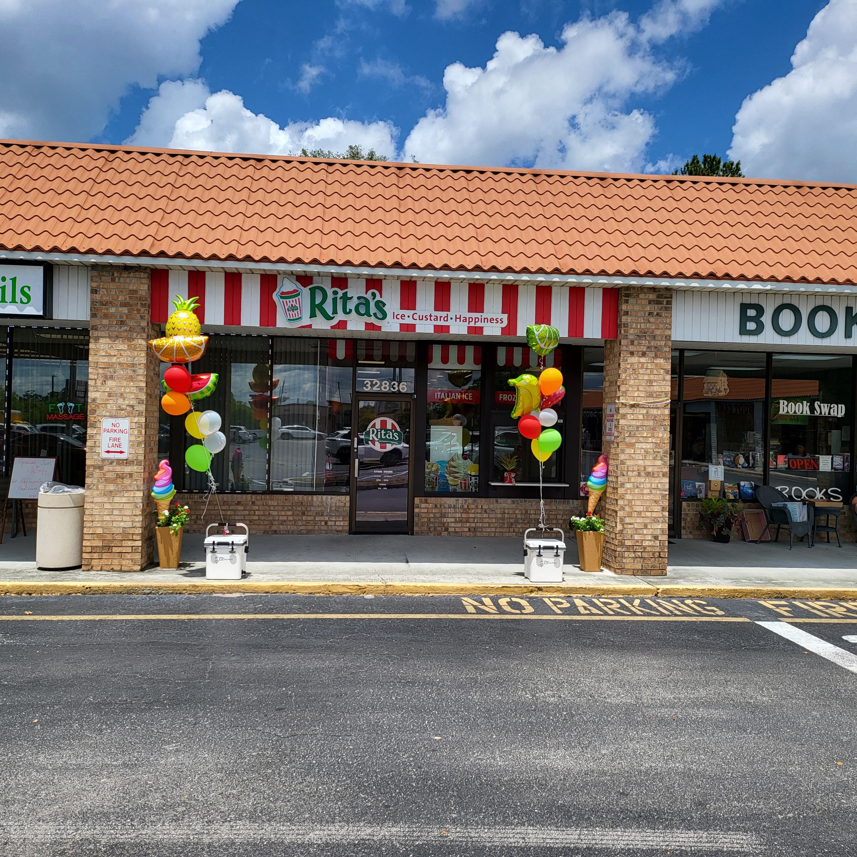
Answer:
M0 141L0 247L854 284L857 187Z

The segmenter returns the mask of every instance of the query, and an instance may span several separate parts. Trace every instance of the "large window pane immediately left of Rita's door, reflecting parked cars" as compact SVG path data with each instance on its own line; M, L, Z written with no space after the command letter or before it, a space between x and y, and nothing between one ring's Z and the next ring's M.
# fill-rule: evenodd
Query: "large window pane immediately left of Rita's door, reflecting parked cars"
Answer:
M271 489L347 493L351 342L275 339Z

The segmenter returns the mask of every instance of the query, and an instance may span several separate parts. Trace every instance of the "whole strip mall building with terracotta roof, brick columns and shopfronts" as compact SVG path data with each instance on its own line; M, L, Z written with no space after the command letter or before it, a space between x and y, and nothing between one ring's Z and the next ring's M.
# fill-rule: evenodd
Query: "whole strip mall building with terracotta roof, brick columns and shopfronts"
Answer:
M614 572L705 536L712 467L746 502L854 493L854 187L16 141L0 186L3 468L56 455L85 482L87 569L152 561L159 458L195 529L220 517L159 407L176 295L219 375L219 509L255 533L520 536L536 461L508 381L534 323L566 387L548 522L606 453ZM117 417L129 457L106 460Z

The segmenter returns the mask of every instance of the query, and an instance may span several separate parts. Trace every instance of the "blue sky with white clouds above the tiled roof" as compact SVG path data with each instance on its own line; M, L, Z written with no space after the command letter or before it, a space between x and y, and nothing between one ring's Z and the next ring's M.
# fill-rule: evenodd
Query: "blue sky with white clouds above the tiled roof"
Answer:
M0 0L0 137L857 183L857 0Z

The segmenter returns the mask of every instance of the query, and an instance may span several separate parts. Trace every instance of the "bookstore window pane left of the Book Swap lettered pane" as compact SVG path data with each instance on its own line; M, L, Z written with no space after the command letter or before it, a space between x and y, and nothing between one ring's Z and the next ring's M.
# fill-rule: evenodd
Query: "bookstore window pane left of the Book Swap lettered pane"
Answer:
M707 496L709 465L722 465L718 496L752 500L764 474L765 356L685 351L681 497Z

